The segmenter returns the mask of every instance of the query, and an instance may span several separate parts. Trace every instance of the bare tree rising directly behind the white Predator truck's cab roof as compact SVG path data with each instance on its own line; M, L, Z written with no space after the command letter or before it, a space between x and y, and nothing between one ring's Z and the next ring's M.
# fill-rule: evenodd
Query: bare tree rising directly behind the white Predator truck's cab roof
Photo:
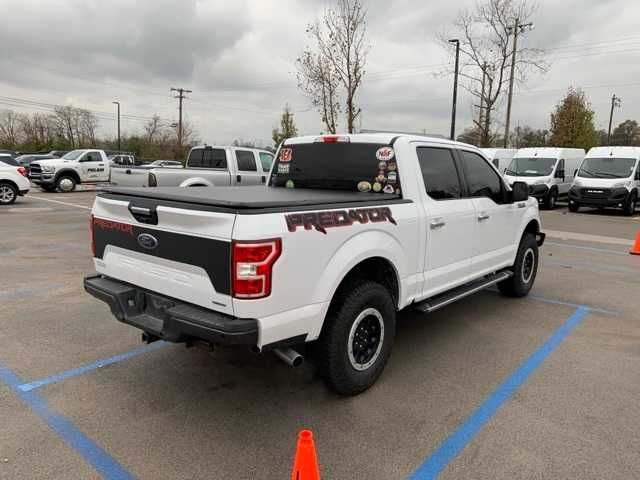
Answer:
M349 133L354 131L361 112L356 104L356 96L362 86L369 52L366 16L360 0L337 0L335 8L325 10L322 22L316 22L307 28L315 47L313 50L307 48L298 59L299 79L303 80L301 88L306 91L305 85L312 87L311 91L315 93L312 101L317 99L322 112L337 113L332 102L336 98L337 88L331 87L340 87L345 95ZM338 103L338 100L335 102ZM335 122L332 123L331 119L334 117L335 115L327 117L323 114L325 125L333 133Z

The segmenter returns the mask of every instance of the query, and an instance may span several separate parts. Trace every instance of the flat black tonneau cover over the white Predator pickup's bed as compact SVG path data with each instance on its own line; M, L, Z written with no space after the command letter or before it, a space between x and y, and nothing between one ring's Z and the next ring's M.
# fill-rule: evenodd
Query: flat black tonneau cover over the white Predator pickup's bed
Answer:
M158 201L189 203L228 210L262 210L272 208L314 207L350 203L399 203L400 195L362 193L312 188L243 187L105 187L101 194L147 198Z

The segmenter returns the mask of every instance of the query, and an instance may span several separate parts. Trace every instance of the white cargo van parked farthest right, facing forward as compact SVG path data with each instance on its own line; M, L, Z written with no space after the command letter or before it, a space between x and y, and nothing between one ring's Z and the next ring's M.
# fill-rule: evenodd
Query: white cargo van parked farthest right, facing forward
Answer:
M569 191L569 210L615 207L633 215L640 191L639 162L640 147L589 150Z

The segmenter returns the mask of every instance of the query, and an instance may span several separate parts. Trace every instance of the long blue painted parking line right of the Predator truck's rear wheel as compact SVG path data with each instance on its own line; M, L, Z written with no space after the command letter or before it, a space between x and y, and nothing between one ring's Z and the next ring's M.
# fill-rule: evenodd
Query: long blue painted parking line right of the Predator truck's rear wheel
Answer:
M578 307L574 314L538 350L525 360L455 432L440 444L411 475L410 479L427 480L437 478L590 311L588 307Z

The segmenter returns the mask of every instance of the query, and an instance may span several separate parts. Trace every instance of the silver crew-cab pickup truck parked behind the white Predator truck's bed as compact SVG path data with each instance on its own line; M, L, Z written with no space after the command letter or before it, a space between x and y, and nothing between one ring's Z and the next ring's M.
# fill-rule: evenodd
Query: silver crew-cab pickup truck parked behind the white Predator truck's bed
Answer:
M111 184L126 187L264 185L273 154L244 147L193 147L185 167L114 168Z

